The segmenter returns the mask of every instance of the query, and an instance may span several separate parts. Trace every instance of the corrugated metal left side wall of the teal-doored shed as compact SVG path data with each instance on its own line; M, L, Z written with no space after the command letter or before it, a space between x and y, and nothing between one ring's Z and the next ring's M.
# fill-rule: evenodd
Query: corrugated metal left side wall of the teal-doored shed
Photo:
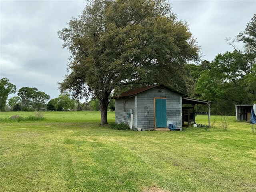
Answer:
M116 123L125 122L130 125L131 119L127 118L127 114L130 113L130 109L134 111L134 100L135 97L132 98L120 98L116 99ZM123 111L123 104L126 102L126 111ZM135 115L133 116L133 127L135 126Z

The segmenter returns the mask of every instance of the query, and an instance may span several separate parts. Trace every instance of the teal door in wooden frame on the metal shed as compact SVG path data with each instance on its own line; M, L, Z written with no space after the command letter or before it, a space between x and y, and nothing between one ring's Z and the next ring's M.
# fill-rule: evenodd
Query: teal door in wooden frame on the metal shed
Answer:
M155 118L157 128L167 127L165 98L155 99Z

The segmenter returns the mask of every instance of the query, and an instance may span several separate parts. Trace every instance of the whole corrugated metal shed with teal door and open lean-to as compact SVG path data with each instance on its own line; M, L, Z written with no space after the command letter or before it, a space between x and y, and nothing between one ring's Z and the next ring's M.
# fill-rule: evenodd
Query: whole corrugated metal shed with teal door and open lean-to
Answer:
M154 130L168 128L172 124L181 130L184 121L188 124L195 122L193 113L187 109L182 113L182 103L193 107L195 104L207 104L210 126L210 101L186 98L185 94L164 85L133 89L112 98L116 101L116 123L132 123L132 128Z

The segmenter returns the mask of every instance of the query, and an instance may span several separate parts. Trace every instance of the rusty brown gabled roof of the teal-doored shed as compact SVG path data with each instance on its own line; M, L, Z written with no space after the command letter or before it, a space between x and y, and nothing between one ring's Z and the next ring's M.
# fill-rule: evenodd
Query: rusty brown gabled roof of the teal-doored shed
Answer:
M149 90L149 89L152 89L152 88L155 88L155 87L158 87L158 86L166 88L166 89L171 90L173 92L176 92L176 93L178 93L180 95L185 95L185 94L183 94L181 92L178 92L178 91L176 91L176 90L174 90L174 89L172 89L170 87L158 84L158 85L152 85L152 86L145 86L145 87L142 87L142 88L139 88L139 89L131 89L129 91L121 93L120 95L113 96L112 99L133 96L133 95L136 95L138 93L144 92L146 90Z

